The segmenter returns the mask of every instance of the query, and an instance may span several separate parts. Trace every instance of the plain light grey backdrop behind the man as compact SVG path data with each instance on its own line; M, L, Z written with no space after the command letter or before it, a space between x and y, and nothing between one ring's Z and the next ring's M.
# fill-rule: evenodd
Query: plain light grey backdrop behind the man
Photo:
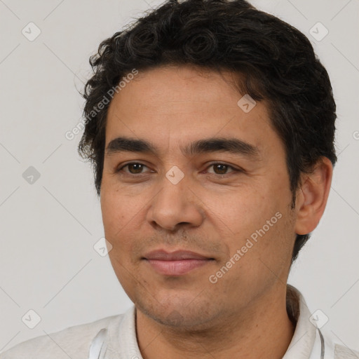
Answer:
M159 4L0 0L0 351L132 305L109 258L93 248L104 236L93 174L76 151L81 133L73 140L65 133L81 118L88 57L100 41ZM304 32L332 80L339 159L325 215L289 283L312 313L325 313L323 328L339 344L358 349L359 1L252 4ZM313 26L328 34L316 40ZM41 34L29 41L37 28ZM34 329L22 321L34 320L29 310L41 318Z

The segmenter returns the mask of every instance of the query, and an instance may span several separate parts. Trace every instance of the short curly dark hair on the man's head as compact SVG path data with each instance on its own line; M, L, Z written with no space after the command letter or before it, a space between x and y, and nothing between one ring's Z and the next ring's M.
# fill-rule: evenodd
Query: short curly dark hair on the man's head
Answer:
M271 123L285 145L292 207L301 172L309 173L321 156L336 163L332 86L298 29L245 0L168 0L135 20L102 41L90 57L93 76L83 93L86 125L78 149L93 165L98 196L107 95L134 69L196 65L240 74L241 93L269 104ZM292 263L310 234L297 235Z

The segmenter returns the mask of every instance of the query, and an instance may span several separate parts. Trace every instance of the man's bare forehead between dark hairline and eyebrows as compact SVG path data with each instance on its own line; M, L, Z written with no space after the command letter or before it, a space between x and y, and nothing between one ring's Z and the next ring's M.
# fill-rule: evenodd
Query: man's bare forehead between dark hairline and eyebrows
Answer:
M168 151L216 136L238 137L259 148L264 140L278 140L264 101L249 112L238 106L245 94L236 88L237 79L231 72L184 66L139 72L111 100L106 143L137 137L166 144Z

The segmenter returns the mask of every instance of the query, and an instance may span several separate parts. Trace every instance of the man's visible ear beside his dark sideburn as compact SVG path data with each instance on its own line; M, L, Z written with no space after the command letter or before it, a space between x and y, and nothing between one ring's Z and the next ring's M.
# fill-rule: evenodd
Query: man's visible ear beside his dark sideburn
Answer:
M311 173L302 175L295 203L295 233L308 234L318 226L327 205L332 175L332 162L327 157L320 158Z

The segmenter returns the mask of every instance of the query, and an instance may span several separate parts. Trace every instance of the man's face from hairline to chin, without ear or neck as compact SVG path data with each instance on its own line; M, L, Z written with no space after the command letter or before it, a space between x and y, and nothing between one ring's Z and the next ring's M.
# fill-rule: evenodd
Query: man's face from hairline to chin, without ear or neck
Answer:
M101 188L109 257L137 309L158 323L201 327L285 291L295 239L285 149L264 102L248 112L225 78L151 69L109 107ZM240 143L194 145L209 139Z

